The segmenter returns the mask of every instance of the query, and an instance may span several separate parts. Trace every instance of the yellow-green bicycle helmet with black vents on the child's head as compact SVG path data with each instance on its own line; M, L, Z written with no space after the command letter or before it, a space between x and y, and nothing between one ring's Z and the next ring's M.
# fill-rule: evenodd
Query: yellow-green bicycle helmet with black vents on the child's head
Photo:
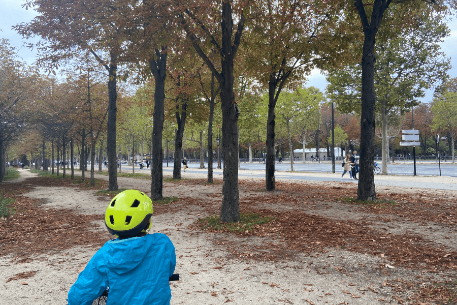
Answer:
M117 194L106 208L105 225L112 235L136 236L146 232L153 211L152 200L146 194L126 190Z

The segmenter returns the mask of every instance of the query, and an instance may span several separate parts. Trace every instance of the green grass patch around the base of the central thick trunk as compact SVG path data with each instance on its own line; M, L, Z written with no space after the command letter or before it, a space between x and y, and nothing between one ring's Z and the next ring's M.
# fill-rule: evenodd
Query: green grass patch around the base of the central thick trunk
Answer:
M240 221L236 223L223 223L220 221L219 215L212 215L200 219L199 223L203 229L239 233L253 231L256 226L268 224L273 219L273 217L261 216L258 213L248 212L240 213Z

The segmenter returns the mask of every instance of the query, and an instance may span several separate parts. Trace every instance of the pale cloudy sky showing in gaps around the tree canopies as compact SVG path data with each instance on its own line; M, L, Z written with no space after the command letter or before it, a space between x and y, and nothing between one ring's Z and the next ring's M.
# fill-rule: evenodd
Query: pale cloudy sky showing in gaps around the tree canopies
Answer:
M23 40L20 35L14 32L11 29L12 25L28 22L34 16L34 11L28 9L25 10L22 8L24 0L0 0L0 7L2 8L1 18L0 18L0 38L6 38L10 40L12 46L21 47ZM449 29L451 31L450 36L442 44L442 51L444 51L448 57L451 58L452 68L448 71L450 77L457 77L457 21L456 18L453 18L448 22ZM38 41L38 39L36 40ZM26 48L21 48L19 50L19 56L22 57L28 65L31 65L35 60L35 51L31 51ZM325 90L327 82L325 82L325 76L321 75L319 71L313 71L312 75L309 77L309 82L307 86L315 86L322 90ZM428 90L426 92L425 98L421 99L422 102L431 102L433 99L433 90Z

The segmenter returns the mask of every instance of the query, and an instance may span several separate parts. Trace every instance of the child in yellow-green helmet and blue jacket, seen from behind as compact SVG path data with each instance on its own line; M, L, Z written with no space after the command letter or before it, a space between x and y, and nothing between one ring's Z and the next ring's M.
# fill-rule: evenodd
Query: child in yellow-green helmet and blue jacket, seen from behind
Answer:
M169 305L169 277L175 247L165 234L148 234L152 201L127 190L111 200L105 213L108 231L119 236L97 251L68 293L69 305L91 304L109 286L107 305Z

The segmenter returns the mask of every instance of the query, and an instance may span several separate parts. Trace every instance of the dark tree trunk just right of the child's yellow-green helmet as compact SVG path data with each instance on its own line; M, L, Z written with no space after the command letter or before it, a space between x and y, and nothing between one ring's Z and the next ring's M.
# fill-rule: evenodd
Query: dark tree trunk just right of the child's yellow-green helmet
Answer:
M165 78L167 69L167 48L155 50L157 60L152 59L149 66L155 79L154 113L152 114L152 162L151 162L151 199L162 199L162 132L164 131L165 111ZM176 161L175 161L176 162Z

